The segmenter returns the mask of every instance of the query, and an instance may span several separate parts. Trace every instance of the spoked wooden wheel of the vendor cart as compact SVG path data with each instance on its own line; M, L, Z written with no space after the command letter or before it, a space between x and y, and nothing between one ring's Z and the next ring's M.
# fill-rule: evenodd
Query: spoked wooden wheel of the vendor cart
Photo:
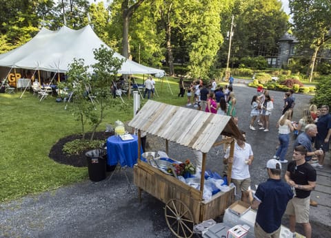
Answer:
M164 208L165 220L177 237L189 238L193 235L193 215L183 202L170 199Z

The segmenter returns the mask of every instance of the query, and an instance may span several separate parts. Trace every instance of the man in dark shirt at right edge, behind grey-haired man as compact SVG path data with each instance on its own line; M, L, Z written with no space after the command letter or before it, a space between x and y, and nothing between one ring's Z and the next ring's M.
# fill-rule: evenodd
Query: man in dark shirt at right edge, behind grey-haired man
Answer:
M319 120L316 122L318 133L315 138L315 148L321 149L323 151L323 155L321 155L319 162L312 164L312 166L318 169L323 169L325 152L329 151L331 136L331 115L329 114L329 107L326 105L323 105L320 111L321 116L319 116Z

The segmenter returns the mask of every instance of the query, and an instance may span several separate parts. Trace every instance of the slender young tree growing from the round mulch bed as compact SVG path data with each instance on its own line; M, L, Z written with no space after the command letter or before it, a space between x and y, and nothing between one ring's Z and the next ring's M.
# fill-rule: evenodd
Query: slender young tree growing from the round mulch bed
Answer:
M84 65L83 59L74 59L69 65L68 80L59 85L60 88L67 87L72 92L72 107L74 116L81 123L83 140L85 139L85 125L92 125L93 140L97 127L105 117L105 110L112 103L110 87L112 81L117 79L117 72L123 64L123 60L114 57L114 51L104 47L94 50L94 58L97 63ZM90 72L90 69L93 72Z

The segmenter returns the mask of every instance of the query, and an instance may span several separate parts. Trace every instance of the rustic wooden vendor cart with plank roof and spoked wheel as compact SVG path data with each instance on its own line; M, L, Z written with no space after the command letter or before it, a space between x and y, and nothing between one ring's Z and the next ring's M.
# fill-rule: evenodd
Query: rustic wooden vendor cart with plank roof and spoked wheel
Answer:
M243 139L229 116L166 105L153 100L146 102L129 125L138 129L139 138L141 130L164 138L166 153L169 150L169 141L201 151L201 174L205 173L205 160L212 146L230 143L232 157L234 138ZM221 134L228 136L228 139L217 142ZM200 190L197 190L166 175L140 160L140 143L139 140L139 159L134 165L134 184L139 188L139 198L141 199L143 190L165 203L165 220L177 237L192 237L194 224L223 215L225 209L234 202L234 188L213 195L209 201L203 200L204 176L201 176Z

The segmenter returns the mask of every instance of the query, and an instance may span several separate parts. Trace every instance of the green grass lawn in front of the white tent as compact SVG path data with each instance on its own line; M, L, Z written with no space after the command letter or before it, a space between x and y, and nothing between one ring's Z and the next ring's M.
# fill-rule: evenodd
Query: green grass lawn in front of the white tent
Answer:
M159 97L154 100L185 105L187 98L177 97L177 82L172 78L156 79ZM79 122L70 113L70 104L65 110L64 103L55 102L55 98L39 102L29 92L20 96L21 91L0 94L0 202L88 179L86 168L58 164L48 157L52 145L60 138L81 132ZM116 120L126 122L132 118L132 97L130 100L123 97L126 104L116 100L117 106L107 111L99 131L106 124L114 125Z

